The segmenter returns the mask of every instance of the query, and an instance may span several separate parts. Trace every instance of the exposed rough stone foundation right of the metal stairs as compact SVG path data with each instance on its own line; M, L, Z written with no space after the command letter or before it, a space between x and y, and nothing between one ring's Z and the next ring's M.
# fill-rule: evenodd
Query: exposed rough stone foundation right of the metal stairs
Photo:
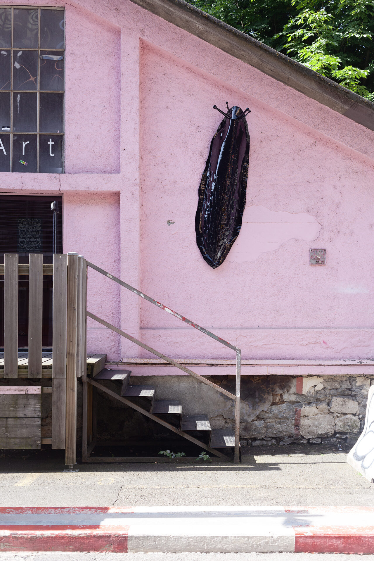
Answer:
M302 394L296 391L301 385L296 378L284 391L273 387L270 406L253 420L242 420L243 444L354 444L363 430L371 378L306 376Z

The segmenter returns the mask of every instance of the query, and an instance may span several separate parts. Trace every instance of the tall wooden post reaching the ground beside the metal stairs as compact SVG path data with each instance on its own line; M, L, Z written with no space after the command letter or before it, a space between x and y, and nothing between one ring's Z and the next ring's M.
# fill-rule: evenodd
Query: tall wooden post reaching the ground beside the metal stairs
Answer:
M77 463L77 304L79 257L68 253L65 463Z

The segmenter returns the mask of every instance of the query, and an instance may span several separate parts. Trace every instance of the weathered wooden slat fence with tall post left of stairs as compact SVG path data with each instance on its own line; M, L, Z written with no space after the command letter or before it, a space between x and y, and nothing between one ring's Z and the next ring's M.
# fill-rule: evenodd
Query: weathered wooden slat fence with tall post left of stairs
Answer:
M77 254L56 254L53 265L43 265L42 254L30 254L27 265L19 264L17 254L5 254L0 274L4 275L4 353L0 372L3 362L3 378L18 378L19 369L27 369L28 378L40 379L48 367L52 377L52 448L65 449L66 463L72 466L76 463L77 378L86 377L87 367L86 260ZM20 275L29 276L28 353L18 352ZM42 346L43 275L53 275L52 356L43 352ZM35 417L31 424L38 422L40 417Z

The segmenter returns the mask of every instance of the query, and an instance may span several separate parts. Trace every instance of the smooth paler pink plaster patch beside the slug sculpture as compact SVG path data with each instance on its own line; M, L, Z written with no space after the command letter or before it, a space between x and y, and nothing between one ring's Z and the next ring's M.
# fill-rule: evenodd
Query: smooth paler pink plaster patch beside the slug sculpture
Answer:
M228 261L255 261L266 251L274 251L288 240L316 240L321 224L309 214L275 211L265 206L246 206L242 228Z

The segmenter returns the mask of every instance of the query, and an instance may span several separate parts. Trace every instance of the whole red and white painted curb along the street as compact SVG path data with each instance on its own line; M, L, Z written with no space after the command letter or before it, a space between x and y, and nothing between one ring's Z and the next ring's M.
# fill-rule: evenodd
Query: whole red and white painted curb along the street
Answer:
M373 554L374 508L4 507L0 551Z

